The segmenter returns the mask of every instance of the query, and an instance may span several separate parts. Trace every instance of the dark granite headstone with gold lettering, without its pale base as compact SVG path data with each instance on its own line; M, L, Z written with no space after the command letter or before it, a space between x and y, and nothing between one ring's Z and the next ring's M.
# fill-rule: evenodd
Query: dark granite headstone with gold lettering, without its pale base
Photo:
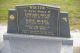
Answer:
M70 37L68 13L57 6L16 5L8 20L8 33Z

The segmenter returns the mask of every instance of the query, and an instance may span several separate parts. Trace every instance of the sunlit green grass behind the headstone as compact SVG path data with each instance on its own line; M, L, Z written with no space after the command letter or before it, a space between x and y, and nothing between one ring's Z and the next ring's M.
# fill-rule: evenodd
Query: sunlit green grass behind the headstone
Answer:
M14 8L17 4L42 3L58 5L61 10L69 12L71 29L77 25L80 28L80 0L0 0L0 21L8 18L8 9ZM78 21L75 21L78 20ZM74 24L75 22L76 25Z

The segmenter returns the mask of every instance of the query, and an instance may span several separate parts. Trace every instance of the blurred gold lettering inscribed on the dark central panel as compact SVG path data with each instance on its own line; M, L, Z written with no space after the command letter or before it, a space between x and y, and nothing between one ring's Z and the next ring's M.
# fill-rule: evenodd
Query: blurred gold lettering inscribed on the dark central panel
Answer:
M49 32L51 11L43 6L27 6L24 10L25 26L22 33L53 35Z

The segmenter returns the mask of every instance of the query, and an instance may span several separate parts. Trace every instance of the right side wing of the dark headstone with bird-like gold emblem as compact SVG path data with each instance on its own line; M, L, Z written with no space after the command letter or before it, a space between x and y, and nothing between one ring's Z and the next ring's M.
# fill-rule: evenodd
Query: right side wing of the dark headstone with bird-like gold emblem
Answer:
M70 37L68 18L67 12L60 12L60 37Z

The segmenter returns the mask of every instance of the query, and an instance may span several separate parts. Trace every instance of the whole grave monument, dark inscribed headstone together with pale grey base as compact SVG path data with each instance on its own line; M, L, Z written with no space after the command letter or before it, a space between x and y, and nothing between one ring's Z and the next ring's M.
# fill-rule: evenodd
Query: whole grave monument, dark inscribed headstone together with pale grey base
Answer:
M17 5L9 10L8 31L3 35L5 45L10 46L11 53L61 53L64 45L73 45L68 19L64 19L67 16L56 6Z

